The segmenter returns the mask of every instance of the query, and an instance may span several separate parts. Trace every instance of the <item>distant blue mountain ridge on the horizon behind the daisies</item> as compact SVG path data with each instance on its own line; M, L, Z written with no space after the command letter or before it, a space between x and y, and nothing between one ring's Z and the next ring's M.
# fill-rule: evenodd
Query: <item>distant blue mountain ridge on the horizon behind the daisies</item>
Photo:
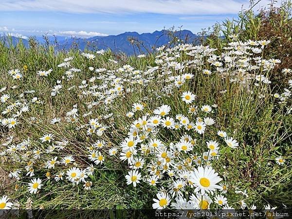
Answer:
M153 47L157 48L167 44L171 40L169 35L174 35L186 43L193 43L197 38L197 36L189 30L181 30L177 32L162 30L143 34L138 34L137 32L125 32L119 35L90 38L48 36L48 39L51 43L56 39L58 41L59 49L69 50L71 47L76 46L81 51L86 48L90 50L110 49L113 52L123 52L127 55L139 55L152 52ZM0 40L4 39L4 37L0 37ZM45 43L45 40L42 37L36 37L36 39L40 43ZM133 43L130 43L129 40L132 40ZM20 38L12 37L12 41L13 45L16 45L20 41ZM21 41L25 46L29 45L27 39L21 39ZM6 42L6 45L9 45L9 43Z

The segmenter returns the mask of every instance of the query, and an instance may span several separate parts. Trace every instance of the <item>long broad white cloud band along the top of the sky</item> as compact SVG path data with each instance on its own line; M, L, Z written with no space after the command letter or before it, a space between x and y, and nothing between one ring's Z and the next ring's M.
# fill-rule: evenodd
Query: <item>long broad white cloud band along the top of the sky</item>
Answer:
M254 9L267 6L261 0ZM1 0L0 11L71 13L157 13L172 15L237 14L249 0Z

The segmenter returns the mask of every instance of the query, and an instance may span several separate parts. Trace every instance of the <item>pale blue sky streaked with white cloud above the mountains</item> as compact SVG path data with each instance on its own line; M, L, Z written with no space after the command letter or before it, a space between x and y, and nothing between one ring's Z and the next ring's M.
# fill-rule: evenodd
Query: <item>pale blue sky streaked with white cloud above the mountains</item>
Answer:
M0 33L93 37L172 26L197 33L236 18L249 0L0 0ZM254 10L265 7L261 0Z

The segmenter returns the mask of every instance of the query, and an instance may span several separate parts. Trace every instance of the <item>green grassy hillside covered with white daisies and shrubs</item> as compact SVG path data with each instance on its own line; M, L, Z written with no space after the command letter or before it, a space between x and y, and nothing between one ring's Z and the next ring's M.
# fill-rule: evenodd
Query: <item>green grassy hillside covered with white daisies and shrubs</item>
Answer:
M0 44L0 208L291 207L290 12L149 55Z

